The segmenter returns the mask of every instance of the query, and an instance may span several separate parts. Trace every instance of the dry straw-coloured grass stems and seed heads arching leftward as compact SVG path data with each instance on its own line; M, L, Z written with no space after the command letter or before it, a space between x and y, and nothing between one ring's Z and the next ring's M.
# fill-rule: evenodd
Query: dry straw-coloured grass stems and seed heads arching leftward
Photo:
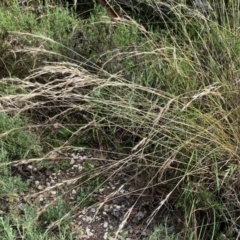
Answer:
M180 14L176 8L179 21L183 18ZM196 19L197 14L200 13L194 15ZM226 33L238 35L231 29L211 25L203 15L201 19L209 24L209 29L201 28L203 35L197 34L196 40L195 32L187 29L188 19L184 19L185 32L178 39L173 36L170 41L166 38L159 43L150 41L151 34L145 35L146 45L151 48L131 48L126 52L113 49L100 67L91 65L94 71L86 68L86 62L49 61L27 77L2 79L2 84L11 83L15 88L14 94L1 95L2 111L28 116L34 122L31 129L37 132L51 131L56 123L71 132L61 146L53 147L42 158L22 159L13 164L48 159L54 151L76 148L73 143L77 138L90 136L93 145L102 150L96 158L100 165L69 180L71 183L84 185L86 176L91 176L87 181L97 176L104 176L107 181L119 172L131 173L132 179L143 183L134 192L139 194L138 200L150 190L155 202L146 225L164 206L170 205L183 212L186 229L179 236L185 239L191 233L192 239L208 239L209 232L215 237L221 222L238 226L239 59L234 52L238 50L227 45ZM140 32L144 33L142 29ZM213 35L207 35L210 32ZM214 45L214 34L222 40L220 47ZM181 38L184 42L179 42ZM15 51L29 56L52 55L39 48ZM116 59L122 61L127 55L136 60L137 70L149 67L145 80L138 76L139 81L130 81L124 71L108 71L117 64ZM160 79L157 86L154 80L151 86L151 74ZM111 159L112 154L118 160ZM100 206L119 191L109 195ZM126 213L116 235L134 206Z

